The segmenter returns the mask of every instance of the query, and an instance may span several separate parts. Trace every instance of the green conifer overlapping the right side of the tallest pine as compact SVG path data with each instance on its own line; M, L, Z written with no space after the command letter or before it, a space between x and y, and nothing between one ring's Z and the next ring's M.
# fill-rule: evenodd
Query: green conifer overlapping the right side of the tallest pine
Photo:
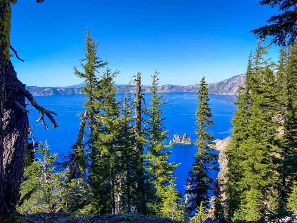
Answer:
M95 111L97 125L94 126L92 139L90 177L91 186L99 206L96 213L116 212L116 164L119 159L117 142L120 140L119 118L120 107L116 99L114 78L119 71L109 68L100 76L95 96L99 95L101 111ZM98 112L98 113L97 113Z

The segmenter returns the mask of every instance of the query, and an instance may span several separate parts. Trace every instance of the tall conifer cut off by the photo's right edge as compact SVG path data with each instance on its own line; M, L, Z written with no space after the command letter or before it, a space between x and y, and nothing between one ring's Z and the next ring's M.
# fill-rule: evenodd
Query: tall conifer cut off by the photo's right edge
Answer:
M288 60L284 75L278 77L282 84L279 104L282 105L280 118L282 134L278 142L282 158L282 199L287 201L288 192L296 180L297 165L297 46L288 48ZM282 56L282 55L281 55Z

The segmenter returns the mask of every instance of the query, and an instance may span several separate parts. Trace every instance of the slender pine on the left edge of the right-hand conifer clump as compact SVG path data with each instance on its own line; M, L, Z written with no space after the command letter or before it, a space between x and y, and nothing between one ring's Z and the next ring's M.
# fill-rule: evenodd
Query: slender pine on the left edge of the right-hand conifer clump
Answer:
M247 76L245 87L239 86L238 88L238 101L236 111L231 120L232 123L232 136L230 144L226 149L226 157L228 160L228 172L226 173L227 182L225 183L225 195L227 197L227 218L230 221L233 218L235 211L240 205L240 196L242 191L239 187L239 181L242 178L243 170L241 162L243 161L243 151L240 150L239 145L242 141L248 138L246 131L247 123L249 122L249 106L251 103L250 84L252 83L252 53L249 56L247 64Z

